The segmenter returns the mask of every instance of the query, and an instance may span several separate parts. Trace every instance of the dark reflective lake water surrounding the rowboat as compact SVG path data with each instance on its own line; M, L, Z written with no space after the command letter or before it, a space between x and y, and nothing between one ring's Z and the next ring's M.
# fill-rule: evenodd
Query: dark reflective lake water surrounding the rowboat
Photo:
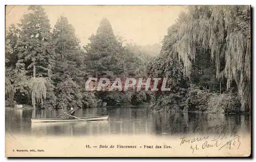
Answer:
M205 113L156 113L136 107L104 107L77 110L77 117L109 115L108 121L31 123L31 118L55 118L67 110L7 110L6 132L44 136L97 136L102 134L216 133L218 126L226 131L250 132L250 116ZM210 128L210 129L209 129Z

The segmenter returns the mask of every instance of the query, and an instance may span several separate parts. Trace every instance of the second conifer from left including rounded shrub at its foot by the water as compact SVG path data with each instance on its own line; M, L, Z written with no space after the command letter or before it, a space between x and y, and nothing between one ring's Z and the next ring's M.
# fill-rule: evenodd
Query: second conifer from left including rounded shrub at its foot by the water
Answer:
M82 99L86 94L82 94L79 89L84 86L83 83L86 81L83 79L84 60L79 39L76 37L75 29L68 22L67 17L61 15L57 20L52 38L56 53L53 80L57 89L57 108L82 107L82 103L84 103ZM87 100L90 102L90 97Z

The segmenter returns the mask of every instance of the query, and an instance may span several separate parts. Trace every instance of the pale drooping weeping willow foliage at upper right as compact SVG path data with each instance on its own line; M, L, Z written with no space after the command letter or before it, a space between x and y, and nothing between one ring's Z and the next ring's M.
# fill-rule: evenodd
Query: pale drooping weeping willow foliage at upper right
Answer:
M208 49L216 77L227 79L227 89L235 80L242 111L250 109L250 7L190 6L173 27L177 31L169 41L174 42L172 53L183 62L184 74L191 74L196 49ZM223 59L225 65L221 68Z

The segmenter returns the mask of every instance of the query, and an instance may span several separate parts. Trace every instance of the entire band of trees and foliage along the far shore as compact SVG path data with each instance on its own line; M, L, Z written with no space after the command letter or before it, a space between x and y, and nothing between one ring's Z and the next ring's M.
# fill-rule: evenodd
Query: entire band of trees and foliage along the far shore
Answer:
M81 46L64 15L51 29L44 8L28 11L6 31L7 105L79 109L150 102L154 110L250 110L249 6L189 6L167 29L162 47L125 43L107 18ZM89 77L165 77L170 91L84 91Z

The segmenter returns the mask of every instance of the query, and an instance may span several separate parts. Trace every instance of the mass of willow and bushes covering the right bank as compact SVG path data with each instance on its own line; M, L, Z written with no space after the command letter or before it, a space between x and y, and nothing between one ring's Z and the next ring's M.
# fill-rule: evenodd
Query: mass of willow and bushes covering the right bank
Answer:
M186 99L180 95L182 90L169 94L169 97L160 95L164 97L157 99L157 102L163 102L160 105L174 109L178 104L183 110L184 104L187 110L192 111L205 111L209 105L217 107L215 112L220 112L218 109L225 106L228 107L222 112L228 112L227 109L229 112L250 110L249 6L188 7L168 28L161 52L160 61L151 67L163 77L170 72L169 67L159 66L164 62L174 66L183 73L183 78L189 78L187 83L190 86L196 85L197 88L186 89ZM173 60L178 60L182 67L175 65ZM225 95L219 95L218 91L225 92ZM181 97L175 100L177 103L173 101L176 95ZM166 98L170 100L166 102ZM214 104L214 100L227 104L220 106ZM241 105L234 103L236 101Z

